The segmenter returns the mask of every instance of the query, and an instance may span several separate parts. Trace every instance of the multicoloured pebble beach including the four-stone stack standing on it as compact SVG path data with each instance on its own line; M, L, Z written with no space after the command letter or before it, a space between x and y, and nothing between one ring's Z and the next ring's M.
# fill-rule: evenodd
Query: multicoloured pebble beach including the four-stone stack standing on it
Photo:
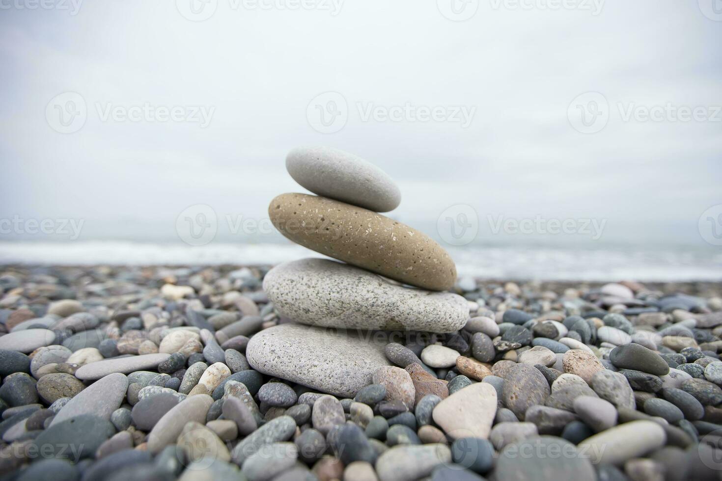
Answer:
M720 283L459 276L378 167L286 165L307 257L0 267L0 480L720 479Z

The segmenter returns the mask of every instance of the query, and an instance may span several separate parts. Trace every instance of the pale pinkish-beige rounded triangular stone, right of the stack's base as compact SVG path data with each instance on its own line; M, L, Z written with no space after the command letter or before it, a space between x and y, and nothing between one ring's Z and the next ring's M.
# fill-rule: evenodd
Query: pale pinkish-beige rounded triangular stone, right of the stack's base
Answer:
M451 438L486 439L497 410L497 392L479 382L451 394L433 408L432 418Z

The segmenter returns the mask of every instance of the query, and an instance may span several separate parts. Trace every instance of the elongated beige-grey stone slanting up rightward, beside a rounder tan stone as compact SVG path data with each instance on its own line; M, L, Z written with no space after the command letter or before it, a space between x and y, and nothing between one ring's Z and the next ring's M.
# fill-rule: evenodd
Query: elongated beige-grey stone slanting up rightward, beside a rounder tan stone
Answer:
M172 407L155 423L152 431L148 434L148 450L157 454L168 444L173 444L181 435L186 423L191 421L205 423L206 413L212 404L212 397L207 394L198 394L189 396Z

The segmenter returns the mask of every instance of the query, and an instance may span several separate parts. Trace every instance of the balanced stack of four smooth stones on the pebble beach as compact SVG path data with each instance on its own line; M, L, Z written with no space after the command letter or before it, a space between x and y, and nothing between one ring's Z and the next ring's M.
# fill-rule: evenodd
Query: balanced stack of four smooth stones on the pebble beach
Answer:
M318 195L278 195L269 205L271 222L293 242L343 262L301 259L266 274L264 291L292 322L253 336L246 351L253 369L353 397L388 366L383 331L464 327L469 302L441 292L456 282L451 257L427 235L379 213L401 202L386 172L327 147L294 149L286 168Z

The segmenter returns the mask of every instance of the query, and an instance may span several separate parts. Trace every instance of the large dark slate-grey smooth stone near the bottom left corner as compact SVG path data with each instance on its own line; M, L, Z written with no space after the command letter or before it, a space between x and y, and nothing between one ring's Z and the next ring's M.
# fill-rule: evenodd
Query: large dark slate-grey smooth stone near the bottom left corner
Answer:
M116 428L109 420L93 415L79 415L53 423L32 441L32 447L35 452L42 452L43 456L78 456L82 459L93 456L100 445L115 433ZM68 449L69 446L75 449Z

